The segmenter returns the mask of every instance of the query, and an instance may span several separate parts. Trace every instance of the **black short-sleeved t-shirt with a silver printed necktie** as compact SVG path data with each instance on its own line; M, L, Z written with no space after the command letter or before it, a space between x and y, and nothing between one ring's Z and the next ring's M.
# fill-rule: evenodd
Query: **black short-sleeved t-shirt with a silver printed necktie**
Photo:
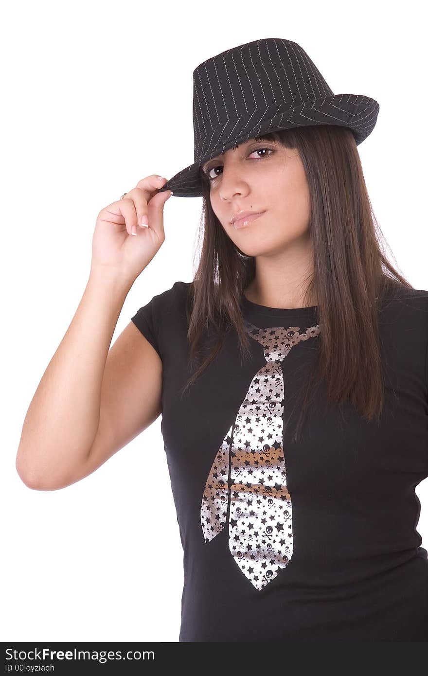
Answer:
M403 287L379 312L379 423L350 402L329 406L322 383L295 443L283 422L300 414L316 308L243 295L251 359L230 331L181 397L195 368L189 285L132 317L163 362L161 431L184 551L179 641L427 641L414 488L428 477L428 291Z

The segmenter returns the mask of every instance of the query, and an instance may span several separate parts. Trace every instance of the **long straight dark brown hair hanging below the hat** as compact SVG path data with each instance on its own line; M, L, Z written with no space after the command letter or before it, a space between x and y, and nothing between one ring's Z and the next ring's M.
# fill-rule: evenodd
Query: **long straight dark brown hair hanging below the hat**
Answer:
M306 380L293 439L298 438L309 395L323 380L330 404L341 406L349 398L366 420L379 420L384 391L378 309L386 293L414 287L385 256L389 246L373 213L354 135L343 126L318 125L271 132L258 139L298 149L310 190L313 275L306 280L304 299L306 305L308 298L318 301L320 333L314 340L319 341L319 349ZM210 182L201 170L200 174L204 204L199 238L203 234L203 241L186 306L190 362L202 359L201 343L210 330L217 342L192 373L182 397L214 361L229 331L236 331L241 358L250 355L240 300L256 274L255 258L239 256L212 210Z

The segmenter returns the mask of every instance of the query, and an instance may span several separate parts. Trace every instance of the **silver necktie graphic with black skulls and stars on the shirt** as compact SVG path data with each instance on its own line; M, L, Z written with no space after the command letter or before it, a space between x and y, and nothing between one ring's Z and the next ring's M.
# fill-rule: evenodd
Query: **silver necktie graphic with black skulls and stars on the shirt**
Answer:
M229 523L229 550L242 573L260 591L293 555L291 496L283 451L282 360L292 347L320 332L319 325L260 329L245 322L263 347L266 364L254 375L218 449L201 502L208 544Z

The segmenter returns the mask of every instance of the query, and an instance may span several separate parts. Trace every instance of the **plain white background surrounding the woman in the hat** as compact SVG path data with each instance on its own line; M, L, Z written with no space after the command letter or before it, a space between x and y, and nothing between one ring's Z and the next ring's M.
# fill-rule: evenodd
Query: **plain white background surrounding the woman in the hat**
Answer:
M15 458L32 395L85 290L99 210L140 178L171 178L193 162L199 63L281 37L306 50L334 93L375 98L377 125L358 146L368 193L399 270L428 289L420 7L87 0L3 9L3 641L178 640L183 552L161 418L60 491L26 487ZM153 295L193 279L201 206L167 201L166 241L128 293L112 343ZM417 495L427 548L427 481ZM153 545L164 552L156 561Z

